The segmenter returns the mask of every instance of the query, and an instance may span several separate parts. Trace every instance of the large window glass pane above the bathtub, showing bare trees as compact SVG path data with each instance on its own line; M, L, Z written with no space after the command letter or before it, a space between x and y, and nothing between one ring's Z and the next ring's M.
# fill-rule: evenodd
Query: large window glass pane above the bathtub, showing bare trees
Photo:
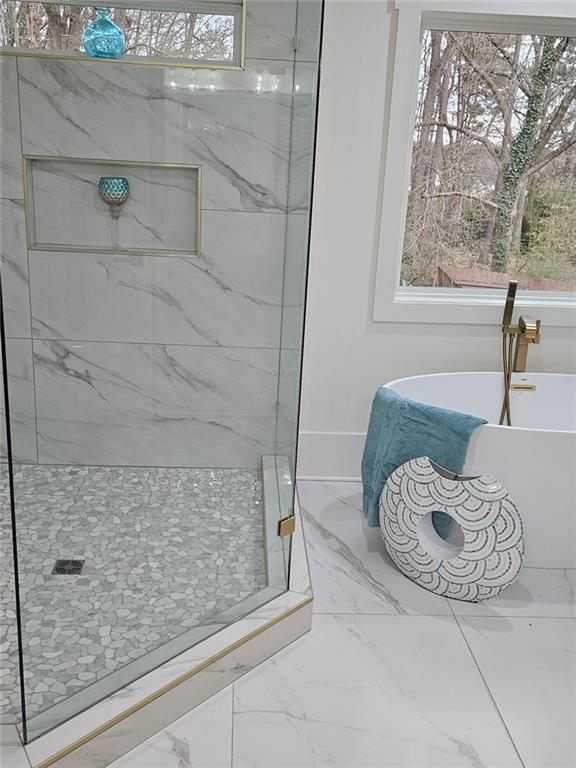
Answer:
M576 290L576 38L425 31L401 284Z

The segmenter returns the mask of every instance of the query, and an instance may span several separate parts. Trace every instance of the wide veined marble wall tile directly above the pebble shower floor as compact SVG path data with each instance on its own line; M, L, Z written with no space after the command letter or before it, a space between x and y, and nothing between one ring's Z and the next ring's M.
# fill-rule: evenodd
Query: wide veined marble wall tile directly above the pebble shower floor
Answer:
M34 342L40 461L250 467L273 443L273 350Z

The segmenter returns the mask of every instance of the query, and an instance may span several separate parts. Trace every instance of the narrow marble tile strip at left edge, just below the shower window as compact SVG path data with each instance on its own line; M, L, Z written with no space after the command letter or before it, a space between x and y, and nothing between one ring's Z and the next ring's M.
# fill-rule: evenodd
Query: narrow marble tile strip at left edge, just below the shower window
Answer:
M21 199L22 154L18 70L14 56L0 56L0 197Z

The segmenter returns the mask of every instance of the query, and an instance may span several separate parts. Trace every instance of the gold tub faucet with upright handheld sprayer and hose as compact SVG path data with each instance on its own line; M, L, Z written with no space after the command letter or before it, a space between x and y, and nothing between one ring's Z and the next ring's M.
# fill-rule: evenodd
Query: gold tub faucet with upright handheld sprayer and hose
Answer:
M512 373L524 373L528 359L528 345L540 343L540 320L520 316L518 325L512 325L512 313L516 299L517 280L510 280L502 316L502 370L504 372L504 398L500 412L500 424L511 425L510 388Z

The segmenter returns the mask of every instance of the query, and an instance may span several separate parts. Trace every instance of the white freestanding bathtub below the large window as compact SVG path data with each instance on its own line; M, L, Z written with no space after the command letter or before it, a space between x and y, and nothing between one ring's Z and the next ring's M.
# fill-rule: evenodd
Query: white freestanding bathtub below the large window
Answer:
M386 386L421 403L481 416L470 440L465 475L494 475L524 522L524 564L576 568L576 375L513 374L534 391L510 393L512 426L498 425L501 373L439 373Z

